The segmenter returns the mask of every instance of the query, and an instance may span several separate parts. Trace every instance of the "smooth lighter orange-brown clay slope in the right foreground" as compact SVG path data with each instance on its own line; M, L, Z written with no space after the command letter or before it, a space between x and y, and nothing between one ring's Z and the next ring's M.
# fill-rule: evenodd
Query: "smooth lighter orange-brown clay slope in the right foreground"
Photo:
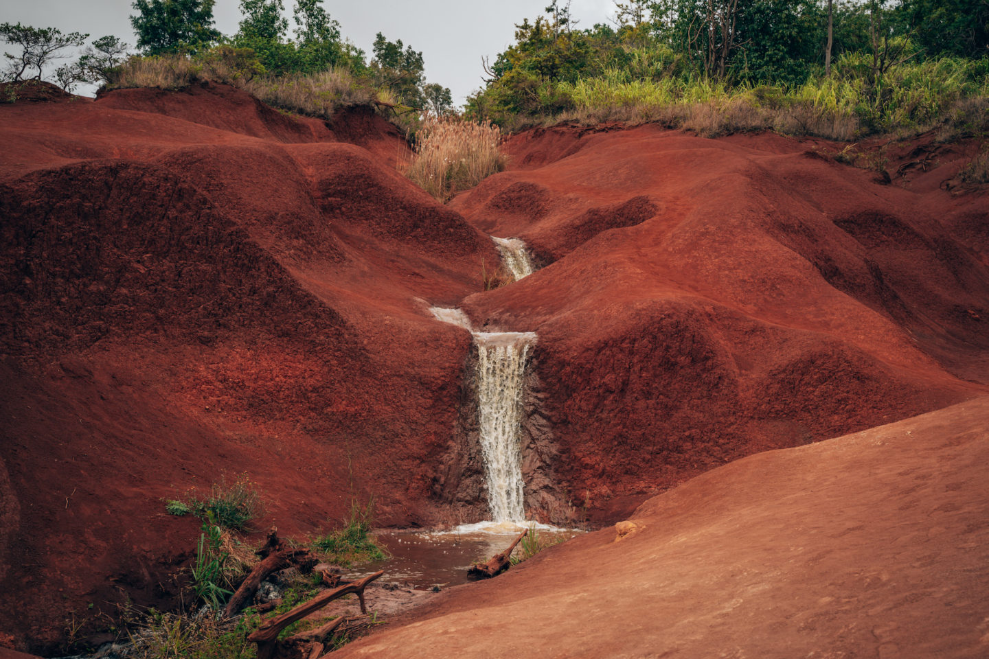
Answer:
M989 398L753 455L350 657L989 655Z

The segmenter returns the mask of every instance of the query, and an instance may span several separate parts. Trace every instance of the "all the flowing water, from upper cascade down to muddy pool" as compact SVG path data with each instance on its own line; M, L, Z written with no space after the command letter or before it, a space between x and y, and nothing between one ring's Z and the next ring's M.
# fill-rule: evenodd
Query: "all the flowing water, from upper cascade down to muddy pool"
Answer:
M518 238L492 239L514 281L534 272L524 242ZM378 532L377 539L391 554L381 564L388 580L419 588L465 583L472 563L503 551L524 529L535 528L540 538L550 541L578 533L525 519L519 433L525 366L538 339L536 333L476 332L460 309L432 307L430 311L437 320L469 331L478 349L478 426L491 519L448 531Z

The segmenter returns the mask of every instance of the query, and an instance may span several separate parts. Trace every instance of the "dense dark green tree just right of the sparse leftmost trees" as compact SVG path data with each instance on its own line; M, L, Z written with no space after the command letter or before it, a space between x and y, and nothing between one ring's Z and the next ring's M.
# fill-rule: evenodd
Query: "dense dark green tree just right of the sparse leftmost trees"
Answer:
M213 27L216 0L134 0L131 25L144 54L196 52L219 40Z

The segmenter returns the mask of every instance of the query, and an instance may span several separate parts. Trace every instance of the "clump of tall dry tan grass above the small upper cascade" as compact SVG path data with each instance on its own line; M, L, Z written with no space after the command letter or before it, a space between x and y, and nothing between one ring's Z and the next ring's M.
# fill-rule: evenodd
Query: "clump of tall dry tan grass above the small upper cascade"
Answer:
M504 169L501 130L491 122L427 117L415 135L405 176L441 202Z

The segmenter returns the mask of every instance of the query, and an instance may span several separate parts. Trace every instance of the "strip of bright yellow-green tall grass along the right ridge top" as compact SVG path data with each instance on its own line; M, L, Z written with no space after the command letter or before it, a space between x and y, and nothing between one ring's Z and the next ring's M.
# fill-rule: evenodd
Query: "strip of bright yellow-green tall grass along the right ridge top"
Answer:
M920 132L945 122L971 123L963 109L989 97L986 60L943 57L905 62L883 75L864 53L843 55L830 77L800 85L728 84L688 74L641 79L628 69L558 85L576 110L560 119L585 123L661 122L713 136L775 129L834 139ZM967 102L967 103L966 103ZM982 104L975 104L982 106ZM984 120L979 120L985 130Z

